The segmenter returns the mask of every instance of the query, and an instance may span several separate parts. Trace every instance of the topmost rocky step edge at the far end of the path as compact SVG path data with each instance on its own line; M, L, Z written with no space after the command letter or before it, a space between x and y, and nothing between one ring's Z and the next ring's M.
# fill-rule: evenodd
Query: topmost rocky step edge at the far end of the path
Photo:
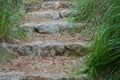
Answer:
M27 12L37 11L40 9L68 9L72 5L73 1L34 1L31 3L25 3L25 9Z

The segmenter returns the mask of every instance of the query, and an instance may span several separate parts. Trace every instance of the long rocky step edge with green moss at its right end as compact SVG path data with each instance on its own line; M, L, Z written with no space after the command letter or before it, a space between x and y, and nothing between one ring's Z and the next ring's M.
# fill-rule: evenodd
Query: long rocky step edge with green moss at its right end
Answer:
M22 56L30 55L42 57L84 56L88 51L90 51L90 44L86 42L61 43L55 41L36 41L19 45L4 44L3 47Z

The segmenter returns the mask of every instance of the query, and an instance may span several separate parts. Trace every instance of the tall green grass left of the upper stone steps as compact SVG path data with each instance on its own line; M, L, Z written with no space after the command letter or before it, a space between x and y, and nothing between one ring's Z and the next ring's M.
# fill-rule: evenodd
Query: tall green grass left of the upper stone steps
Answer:
M21 0L0 0L0 42L6 41L14 32L23 33L18 29L15 31L14 28L18 28L18 21L23 14L23 6ZM20 33L16 34L17 36Z

